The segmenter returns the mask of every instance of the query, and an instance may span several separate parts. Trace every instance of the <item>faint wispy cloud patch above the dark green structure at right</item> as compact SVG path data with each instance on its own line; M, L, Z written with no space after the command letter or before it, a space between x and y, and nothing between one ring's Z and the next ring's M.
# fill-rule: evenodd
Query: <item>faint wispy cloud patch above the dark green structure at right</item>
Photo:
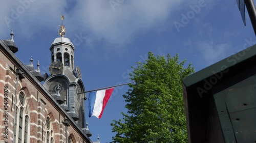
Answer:
M199 51L206 66L227 58L230 55L230 49L232 49L233 42L230 41L230 38L233 33L223 32L220 36L215 37L215 30L211 24L200 23L200 25L201 28L184 42L184 46Z

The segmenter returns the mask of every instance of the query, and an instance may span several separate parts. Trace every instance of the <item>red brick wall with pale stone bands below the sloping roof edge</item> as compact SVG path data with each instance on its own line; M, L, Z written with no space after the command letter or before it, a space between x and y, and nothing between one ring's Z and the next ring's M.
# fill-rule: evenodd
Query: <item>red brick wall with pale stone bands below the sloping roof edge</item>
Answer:
M13 141L13 118L15 104L15 83L16 69L24 68L20 65L9 51L6 51L5 45L0 41L0 128L1 141ZM18 80L17 95L23 92L26 96L27 105L29 108L29 141L30 142L45 142L46 140L46 118L50 117L54 132L54 141L66 142L66 126L62 124L67 116L56 102L45 92L44 88L39 85L39 81L29 75L28 70L25 70L25 78ZM39 83L39 84L38 84ZM8 92L7 92L8 91ZM5 94L7 93L7 94ZM6 98L7 97L7 98ZM6 103L6 104L5 104ZM8 115L5 117L5 115ZM68 119L71 119L68 117ZM7 122L6 122L7 120ZM71 119L72 120L72 119ZM71 135L73 142L91 142L81 130L72 122L68 127L68 136ZM8 126L8 127L6 127ZM6 132L7 130L7 132Z

